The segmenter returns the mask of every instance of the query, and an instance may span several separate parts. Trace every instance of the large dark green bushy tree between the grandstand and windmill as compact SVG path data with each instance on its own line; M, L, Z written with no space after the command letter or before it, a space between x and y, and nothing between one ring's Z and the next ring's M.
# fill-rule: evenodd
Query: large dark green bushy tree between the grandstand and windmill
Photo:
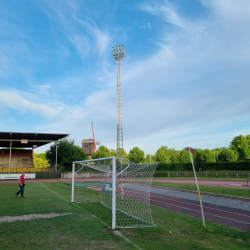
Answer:
M56 144L50 146L46 151L46 158L50 165L56 162ZM86 160L86 154L81 147L74 145L74 140L65 138L57 143L57 162L65 170L72 169L72 162Z

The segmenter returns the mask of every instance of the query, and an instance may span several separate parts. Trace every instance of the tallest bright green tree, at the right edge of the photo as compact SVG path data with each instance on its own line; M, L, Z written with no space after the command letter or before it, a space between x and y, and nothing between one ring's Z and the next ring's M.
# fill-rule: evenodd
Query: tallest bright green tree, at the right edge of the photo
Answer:
M234 137L230 143L230 149L238 152L238 160L250 160L250 135L239 135Z

